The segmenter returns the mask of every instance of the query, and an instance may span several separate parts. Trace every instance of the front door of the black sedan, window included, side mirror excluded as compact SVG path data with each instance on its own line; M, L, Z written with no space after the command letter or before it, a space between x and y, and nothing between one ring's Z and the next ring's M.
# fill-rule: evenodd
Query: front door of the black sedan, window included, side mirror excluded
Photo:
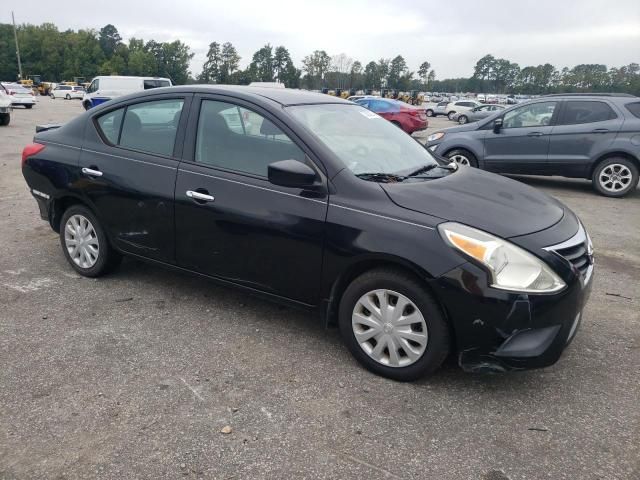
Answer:
M280 187L267 179L270 163L288 159L322 177L309 152L269 113L228 97L203 97L188 130L175 194L178 264L316 303L326 189Z

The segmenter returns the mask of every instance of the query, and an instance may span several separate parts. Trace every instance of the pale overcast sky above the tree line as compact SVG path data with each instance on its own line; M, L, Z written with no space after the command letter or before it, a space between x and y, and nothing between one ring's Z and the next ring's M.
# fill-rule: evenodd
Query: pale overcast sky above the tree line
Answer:
M437 78L469 76L484 54L520 66L550 62L640 63L640 0L50 0L12 2L16 22L61 30L112 23L120 35L187 43L198 73L212 41L233 43L241 66L266 43L284 45L300 67L313 50L346 53L363 65L401 54ZM0 22L11 13L2 9Z

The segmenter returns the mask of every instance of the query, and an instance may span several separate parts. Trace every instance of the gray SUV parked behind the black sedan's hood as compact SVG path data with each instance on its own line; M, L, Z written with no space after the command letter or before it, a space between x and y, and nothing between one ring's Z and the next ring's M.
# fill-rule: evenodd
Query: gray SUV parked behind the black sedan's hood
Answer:
M588 178L602 195L622 197L638 184L640 97L547 95L435 132L426 146L492 172Z

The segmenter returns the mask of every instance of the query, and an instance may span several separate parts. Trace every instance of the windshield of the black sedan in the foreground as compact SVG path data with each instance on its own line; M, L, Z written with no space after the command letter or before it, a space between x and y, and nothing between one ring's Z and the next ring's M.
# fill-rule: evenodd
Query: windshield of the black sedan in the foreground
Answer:
M358 105L298 105L287 110L355 174L397 174L437 164L409 135Z

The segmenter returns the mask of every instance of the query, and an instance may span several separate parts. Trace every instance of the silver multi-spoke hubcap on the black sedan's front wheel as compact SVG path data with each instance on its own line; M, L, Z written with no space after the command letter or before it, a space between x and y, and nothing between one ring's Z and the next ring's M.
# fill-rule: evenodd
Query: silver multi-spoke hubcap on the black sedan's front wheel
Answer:
M427 348L427 324L418 307L392 290L372 290L360 297L351 315L360 348L388 367L406 367Z

